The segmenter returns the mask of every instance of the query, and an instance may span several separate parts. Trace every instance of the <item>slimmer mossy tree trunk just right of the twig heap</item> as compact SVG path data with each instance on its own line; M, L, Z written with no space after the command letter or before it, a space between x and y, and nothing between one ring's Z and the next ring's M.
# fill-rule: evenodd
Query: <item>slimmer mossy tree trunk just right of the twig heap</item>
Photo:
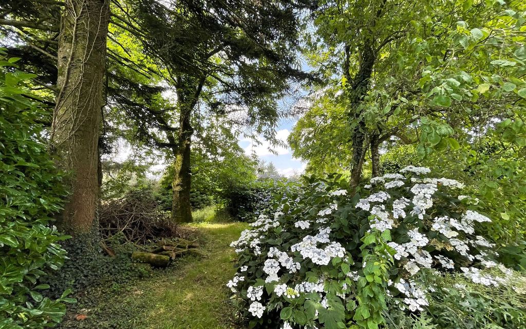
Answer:
M193 129L190 125L191 108L180 107L179 116L179 146L177 147L174 163L173 202L171 218L176 223L190 223L192 211L190 205L191 162L190 146Z

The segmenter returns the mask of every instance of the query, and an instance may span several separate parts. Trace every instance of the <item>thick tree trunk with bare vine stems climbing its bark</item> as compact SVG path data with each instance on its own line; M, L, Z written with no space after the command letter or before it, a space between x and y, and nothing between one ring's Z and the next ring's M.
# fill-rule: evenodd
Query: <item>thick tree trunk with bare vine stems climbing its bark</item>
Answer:
M50 147L70 173L58 224L71 234L89 231L95 218L108 22L109 0L64 2Z

